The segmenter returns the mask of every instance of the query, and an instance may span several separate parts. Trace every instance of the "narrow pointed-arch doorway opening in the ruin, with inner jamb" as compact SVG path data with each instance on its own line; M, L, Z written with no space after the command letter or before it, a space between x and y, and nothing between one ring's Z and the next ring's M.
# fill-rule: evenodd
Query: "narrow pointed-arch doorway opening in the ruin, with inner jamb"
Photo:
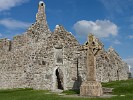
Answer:
M56 71L55 71L55 74L56 74L56 87L57 89L61 89L63 90L63 73L62 71L57 68Z

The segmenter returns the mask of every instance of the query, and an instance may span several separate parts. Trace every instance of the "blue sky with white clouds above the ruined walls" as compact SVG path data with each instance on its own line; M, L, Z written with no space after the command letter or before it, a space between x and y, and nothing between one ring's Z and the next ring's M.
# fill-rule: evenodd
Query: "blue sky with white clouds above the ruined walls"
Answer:
M40 0L0 0L0 38L22 34L32 23ZM47 22L63 25L79 40L94 33L133 66L133 0L44 0Z

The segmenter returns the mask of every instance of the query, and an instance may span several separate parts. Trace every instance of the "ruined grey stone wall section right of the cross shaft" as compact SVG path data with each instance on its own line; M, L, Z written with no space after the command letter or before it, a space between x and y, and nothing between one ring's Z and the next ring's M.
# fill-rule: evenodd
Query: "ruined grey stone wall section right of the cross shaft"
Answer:
M97 79L102 82L126 80L128 65L122 61L113 48L103 50L97 56Z

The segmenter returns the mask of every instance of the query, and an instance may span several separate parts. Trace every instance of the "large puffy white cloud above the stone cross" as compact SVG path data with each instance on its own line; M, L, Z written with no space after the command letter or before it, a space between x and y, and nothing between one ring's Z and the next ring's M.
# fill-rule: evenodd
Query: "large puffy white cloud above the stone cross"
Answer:
M118 34L117 25L109 20L96 20L95 22L81 20L76 22L73 27L78 37L86 37L88 33L93 33L99 38L109 37L110 35L116 36Z

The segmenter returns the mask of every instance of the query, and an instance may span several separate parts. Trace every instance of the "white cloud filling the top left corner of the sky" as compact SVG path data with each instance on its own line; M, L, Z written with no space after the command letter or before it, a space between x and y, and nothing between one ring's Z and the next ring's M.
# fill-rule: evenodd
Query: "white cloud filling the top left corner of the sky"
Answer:
M12 7L21 5L29 0L0 0L0 11L9 10Z

